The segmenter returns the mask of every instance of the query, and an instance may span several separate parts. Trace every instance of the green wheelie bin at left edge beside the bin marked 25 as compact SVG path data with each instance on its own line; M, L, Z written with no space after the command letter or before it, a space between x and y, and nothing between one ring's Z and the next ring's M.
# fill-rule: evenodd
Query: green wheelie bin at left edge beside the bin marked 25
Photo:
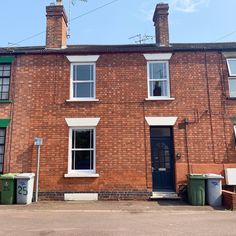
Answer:
M2 204L13 204L15 203L15 176L16 174L4 174L0 176L2 182L1 190L1 203Z

